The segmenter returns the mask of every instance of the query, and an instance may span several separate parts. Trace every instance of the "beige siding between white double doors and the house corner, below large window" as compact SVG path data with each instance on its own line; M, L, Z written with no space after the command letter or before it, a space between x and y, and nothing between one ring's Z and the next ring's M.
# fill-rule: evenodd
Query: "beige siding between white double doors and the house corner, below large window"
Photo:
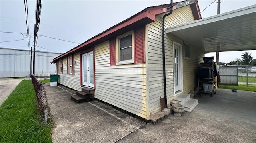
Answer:
M110 66L109 41L94 53L95 98L147 119L145 64Z

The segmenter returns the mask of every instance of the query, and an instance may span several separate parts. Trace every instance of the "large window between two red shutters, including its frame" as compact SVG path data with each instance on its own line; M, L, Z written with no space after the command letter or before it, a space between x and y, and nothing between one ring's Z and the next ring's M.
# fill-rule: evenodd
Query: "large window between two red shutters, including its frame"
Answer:
M116 45L118 45L118 48L116 49L117 64L133 63L133 31L116 37L116 42Z

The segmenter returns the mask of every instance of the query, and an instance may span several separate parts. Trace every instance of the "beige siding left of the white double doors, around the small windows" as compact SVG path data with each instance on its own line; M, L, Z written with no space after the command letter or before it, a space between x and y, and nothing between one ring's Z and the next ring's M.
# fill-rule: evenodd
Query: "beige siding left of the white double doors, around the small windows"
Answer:
M60 75L59 83L72 88L77 91L81 91L80 85L80 54L74 54L74 75L67 74L67 57L63 58L63 74Z

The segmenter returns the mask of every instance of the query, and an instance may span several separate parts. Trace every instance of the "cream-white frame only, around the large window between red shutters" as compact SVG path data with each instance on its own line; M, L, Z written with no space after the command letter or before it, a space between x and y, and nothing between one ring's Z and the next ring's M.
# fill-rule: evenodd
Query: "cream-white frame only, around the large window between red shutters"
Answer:
M132 35L132 59L120 61L120 39L128 35ZM133 31L129 31L127 33L124 33L116 37L116 65L131 64L131 63L134 63L134 32Z

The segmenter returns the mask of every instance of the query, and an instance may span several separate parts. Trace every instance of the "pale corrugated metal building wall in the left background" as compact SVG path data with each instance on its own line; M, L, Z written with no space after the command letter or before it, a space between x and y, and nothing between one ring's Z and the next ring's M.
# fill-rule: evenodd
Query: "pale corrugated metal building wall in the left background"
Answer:
M50 64L60 53L36 51L35 74L55 73L55 64ZM33 66L32 66L33 68ZM0 77L26 77L30 74L30 51L0 48Z

